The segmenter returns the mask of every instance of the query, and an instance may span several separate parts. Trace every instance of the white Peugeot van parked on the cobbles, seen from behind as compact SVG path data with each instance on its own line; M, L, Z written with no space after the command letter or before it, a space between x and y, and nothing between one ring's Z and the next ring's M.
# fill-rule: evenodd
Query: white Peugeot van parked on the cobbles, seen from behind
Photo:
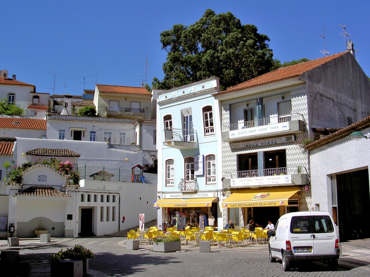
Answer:
M293 212L281 216L269 240L270 262L281 259L283 270L289 261L328 261L336 270L339 258L338 233L328 212Z

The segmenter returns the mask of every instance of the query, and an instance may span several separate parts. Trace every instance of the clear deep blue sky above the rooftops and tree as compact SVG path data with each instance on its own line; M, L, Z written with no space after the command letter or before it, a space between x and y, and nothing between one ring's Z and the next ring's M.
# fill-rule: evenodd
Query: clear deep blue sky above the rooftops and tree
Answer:
M366 4L367 3L367 4ZM207 8L230 11L242 24L268 35L281 62L323 57L346 50L340 33L346 25L359 64L370 76L370 4L368 1L7 1L1 5L0 69L36 85L37 92L72 95L107 85L140 86L163 79L159 34L174 24L195 23ZM357 55L356 55L357 59Z

